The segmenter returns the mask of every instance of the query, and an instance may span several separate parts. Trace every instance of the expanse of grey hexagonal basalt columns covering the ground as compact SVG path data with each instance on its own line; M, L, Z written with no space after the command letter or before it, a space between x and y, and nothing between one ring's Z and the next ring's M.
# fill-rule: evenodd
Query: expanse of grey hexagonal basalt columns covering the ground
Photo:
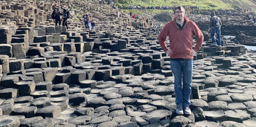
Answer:
M93 6L97 1L56 1L63 2L77 7L69 9L68 29L54 26L49 1L0 2L0 126L255 125L256 55L244 46L224 40L219 51L203 31L193 61L192 114L177 115L159 31L118 9ZM93 31L77 16L85 11L97 24Z

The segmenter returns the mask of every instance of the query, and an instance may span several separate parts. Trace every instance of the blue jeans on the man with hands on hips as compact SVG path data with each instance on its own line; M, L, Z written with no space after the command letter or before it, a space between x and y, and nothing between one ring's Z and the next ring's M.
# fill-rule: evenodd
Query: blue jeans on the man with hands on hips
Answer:
M170 63L172 73L174 74L175 103L177 106L187 107L190 105L189 97L191 93L193 60L170 60ZM183 87L181 81L183 83Z

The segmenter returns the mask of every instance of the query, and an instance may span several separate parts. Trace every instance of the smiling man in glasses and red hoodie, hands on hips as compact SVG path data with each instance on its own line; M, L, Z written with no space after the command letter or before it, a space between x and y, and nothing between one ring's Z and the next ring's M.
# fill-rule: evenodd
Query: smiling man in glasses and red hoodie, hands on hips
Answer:
M183 114L184 107L185 114L191 114L189 96L191 93L193 55L201 48L204 36L194 22L184 17L185 9L183 7L178 6L174 10L174 19L164 26L158 41L166 54L170 55L171 70L174 74L176 113ZM197 41L195 48L192 49L194 35ZM170 49L165 43L166 36L169 36ZM181 81L183 81L183 87Z

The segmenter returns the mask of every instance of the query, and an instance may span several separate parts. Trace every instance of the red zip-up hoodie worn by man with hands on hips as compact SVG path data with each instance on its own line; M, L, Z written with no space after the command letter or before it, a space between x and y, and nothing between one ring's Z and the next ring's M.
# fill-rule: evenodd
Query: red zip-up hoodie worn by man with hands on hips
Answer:
M184 17L186 24L182 31L179 29L176 24L176 17L171 22L165 24L163 30L158 36L158 41L161 48L167 52L168 48L166 46L166 36L169 36L170 49L172 54L170 58L184 58L184 59L193 59L194 57L190 54L193 48L193 36L197 38L196 46L194 48L197 53L198 50L202 47L204 40L204 35L201 30L193 21L189 21L187 17Z

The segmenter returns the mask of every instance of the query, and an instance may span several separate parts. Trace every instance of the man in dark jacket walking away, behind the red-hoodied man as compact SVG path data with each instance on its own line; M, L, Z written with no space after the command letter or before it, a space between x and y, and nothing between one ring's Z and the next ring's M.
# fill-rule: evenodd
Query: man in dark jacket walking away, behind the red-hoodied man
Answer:
M211 30L211 37L212 37L212 45L217 45L214 34L217 34L218 41L219 41L219 50L222 50L221 48L221 38L220 38L220 27L222 25L220 18L215 16L214 12L211 12L211 18L210 18L210 25L208 28L208 32Z

